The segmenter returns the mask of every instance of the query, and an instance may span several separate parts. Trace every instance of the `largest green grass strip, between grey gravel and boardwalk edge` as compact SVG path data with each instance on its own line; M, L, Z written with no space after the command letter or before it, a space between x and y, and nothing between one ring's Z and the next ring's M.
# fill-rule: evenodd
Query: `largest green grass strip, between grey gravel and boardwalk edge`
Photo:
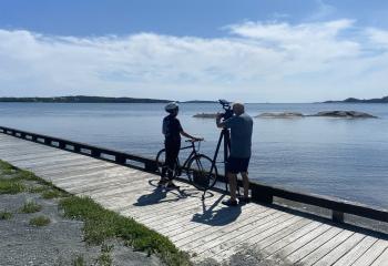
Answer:
M84 241L88 244L101 245L108 238L121 237L136 250L159 254L167 265L191 265L187 254L178 250L166 237L132 218L104 209L89 197L63 198L60 207L65 217L84 221Z

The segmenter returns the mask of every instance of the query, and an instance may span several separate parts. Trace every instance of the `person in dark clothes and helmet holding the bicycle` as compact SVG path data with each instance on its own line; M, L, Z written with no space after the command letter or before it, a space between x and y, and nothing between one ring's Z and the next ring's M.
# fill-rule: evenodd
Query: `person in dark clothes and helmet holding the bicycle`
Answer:
M167 116L163 119L163 129L164 134L164 146L165 146L165 165L162 170L161 181L159 186L166 188L178 188L173 183L173 171L176 163L177 155L180 154L181 149L181 135L191 139L192 141L202 141L202 137L195 137L183 131L181 122L176 119L176 115L180 111L178 104L176 102L169 103L164 110L169 113ZM166 176L167 175L167 176Z

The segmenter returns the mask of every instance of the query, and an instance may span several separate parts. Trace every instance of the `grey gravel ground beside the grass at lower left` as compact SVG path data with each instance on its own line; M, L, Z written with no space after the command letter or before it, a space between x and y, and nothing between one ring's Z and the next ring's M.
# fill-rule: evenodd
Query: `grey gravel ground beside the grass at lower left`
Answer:
M32 214L19 213L28 201L42 205L42 211ZM106 265L101 262L101 246L83 242L83 222L63 218L58 211L58 200L43 200L40 194L0 194L0 212L10 212L10 219L0 219L0 265ZM30 218L47 216L47 226L32 226ZM112 247L111 265L162 265L157 257L133 252L120 241L105 243ZM100 258L100 259L99 259Z

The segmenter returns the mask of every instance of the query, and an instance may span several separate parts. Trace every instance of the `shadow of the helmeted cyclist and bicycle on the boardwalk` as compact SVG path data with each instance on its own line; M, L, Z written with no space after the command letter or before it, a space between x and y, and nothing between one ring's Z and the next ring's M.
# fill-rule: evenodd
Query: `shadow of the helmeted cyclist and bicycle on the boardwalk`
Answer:
M190 188L190 186L183 186L180 190L165 190L157 187L157 181L149 181L149 184L154 187L154 190L149 193L141 195L134 206L147 206L166 202L177 202L185 200L187 197L201 197L201 192ZM169 195L169 196L167 196ZM207 197L212 197L213 193L207 193Z

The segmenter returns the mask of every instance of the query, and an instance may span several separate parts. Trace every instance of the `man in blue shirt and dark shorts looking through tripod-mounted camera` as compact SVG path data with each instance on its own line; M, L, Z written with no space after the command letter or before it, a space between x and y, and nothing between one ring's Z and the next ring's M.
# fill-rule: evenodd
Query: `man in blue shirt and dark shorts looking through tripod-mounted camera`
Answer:
M217 127L231 129L231 155L226 162L226 176L231 187L231 198L223 201L224 205L236 206L236 190L237 190L237 174L241 173L244 184L244 196L239 198L241 203L248 203L248 164L251 158L252 147L252 130L253 120L245 113L244 104L235 102L232 105L234 115L222 121L223 114L216 117Z

